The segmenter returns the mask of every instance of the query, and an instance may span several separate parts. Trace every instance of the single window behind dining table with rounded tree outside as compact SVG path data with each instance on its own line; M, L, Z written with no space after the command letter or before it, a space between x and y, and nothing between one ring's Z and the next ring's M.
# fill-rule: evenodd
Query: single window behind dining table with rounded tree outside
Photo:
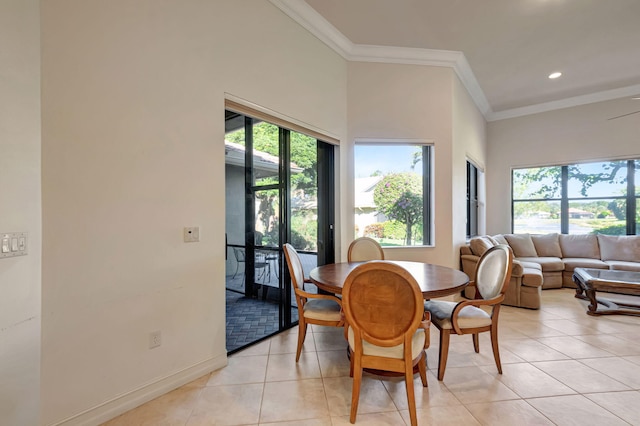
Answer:
M431 244L429 145L357 143L355 236L383 246Z

